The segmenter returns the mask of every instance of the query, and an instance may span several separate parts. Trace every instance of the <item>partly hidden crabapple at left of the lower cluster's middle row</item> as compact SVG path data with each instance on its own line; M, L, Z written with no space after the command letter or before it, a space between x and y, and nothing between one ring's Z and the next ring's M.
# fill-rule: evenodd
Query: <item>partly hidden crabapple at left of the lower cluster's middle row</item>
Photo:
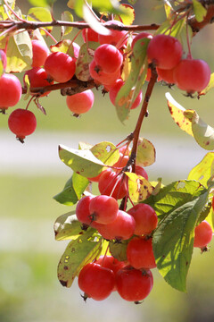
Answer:
M92 219L90 217L90 211L89 211L89 204L92 199L93 197L86 196L78 200L78 204L76 208L76 216L78 218L78 221L85 225L90 225L92 222Z

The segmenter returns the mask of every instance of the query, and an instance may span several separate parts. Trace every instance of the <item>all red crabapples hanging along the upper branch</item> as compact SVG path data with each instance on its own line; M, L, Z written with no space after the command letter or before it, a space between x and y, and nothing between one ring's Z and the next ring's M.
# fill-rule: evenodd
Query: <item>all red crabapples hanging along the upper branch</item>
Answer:
M107 21L105 25L122 25L119 21ZM111 30L110 35L103 36L97 34L94 30L82 30L82 37L85 42L97 42L100 46L95 50L94 59L89 64L88 70L91 79L95 80L97 86L103 85L106 92L109 92L110 100L115 105L115 99L119 89L123 86L124 80L121 78L123 71L124 58L127 54L128 32L125 30ZM183 48L177 38L169 35L152 36L151 33L141 32L132 35L131 50L133 50L136 41L144 38L150 39L147 49L148 63L156 67L158 80L164 80L169 84L176 84L179 89L185 90L188 95L194 92L200 92L206 88L210 81L210 67L200 60L187 56L182 58ZM75 79L76 62L78 59L79 46L71 42L72 56L63 52L50 53L45 42L32 40L32 68L25 72L23 83L26 86L26 77L29 79L30 89L44 88L53 82L64 83ZM6 53L0 52L4 69L6 67ZM133 55L133 54L132 54ZM200 77L198 77L200 75ZM146 80L151 78L151 69L148 69ZM43 93L33 93L34 96L46 96L50 91ZM21 82L12 73L3 73L0 78L0 109L3 113L10 106L16 106L20 101L22 94ZM67 96L66 103L70 111L75 114L84 114L91 109L94 104L94 93L91 89ZM136 100L130 106L136 108L142 101L142 91L139 92ZM8 125L10 130L16 134L18 140L36 130L37 120L35 114L26 109L16 109L9 117Z

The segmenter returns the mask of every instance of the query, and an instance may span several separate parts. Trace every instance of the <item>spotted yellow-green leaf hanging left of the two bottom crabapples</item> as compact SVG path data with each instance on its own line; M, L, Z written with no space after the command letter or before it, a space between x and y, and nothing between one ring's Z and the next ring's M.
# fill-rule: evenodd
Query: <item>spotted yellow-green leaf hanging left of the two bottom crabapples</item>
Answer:
M67 246L57 270L62 286L70 287L81 268L93 261L101 252L103 239L93 236L94 233L95 229L89 228L86 233Z

